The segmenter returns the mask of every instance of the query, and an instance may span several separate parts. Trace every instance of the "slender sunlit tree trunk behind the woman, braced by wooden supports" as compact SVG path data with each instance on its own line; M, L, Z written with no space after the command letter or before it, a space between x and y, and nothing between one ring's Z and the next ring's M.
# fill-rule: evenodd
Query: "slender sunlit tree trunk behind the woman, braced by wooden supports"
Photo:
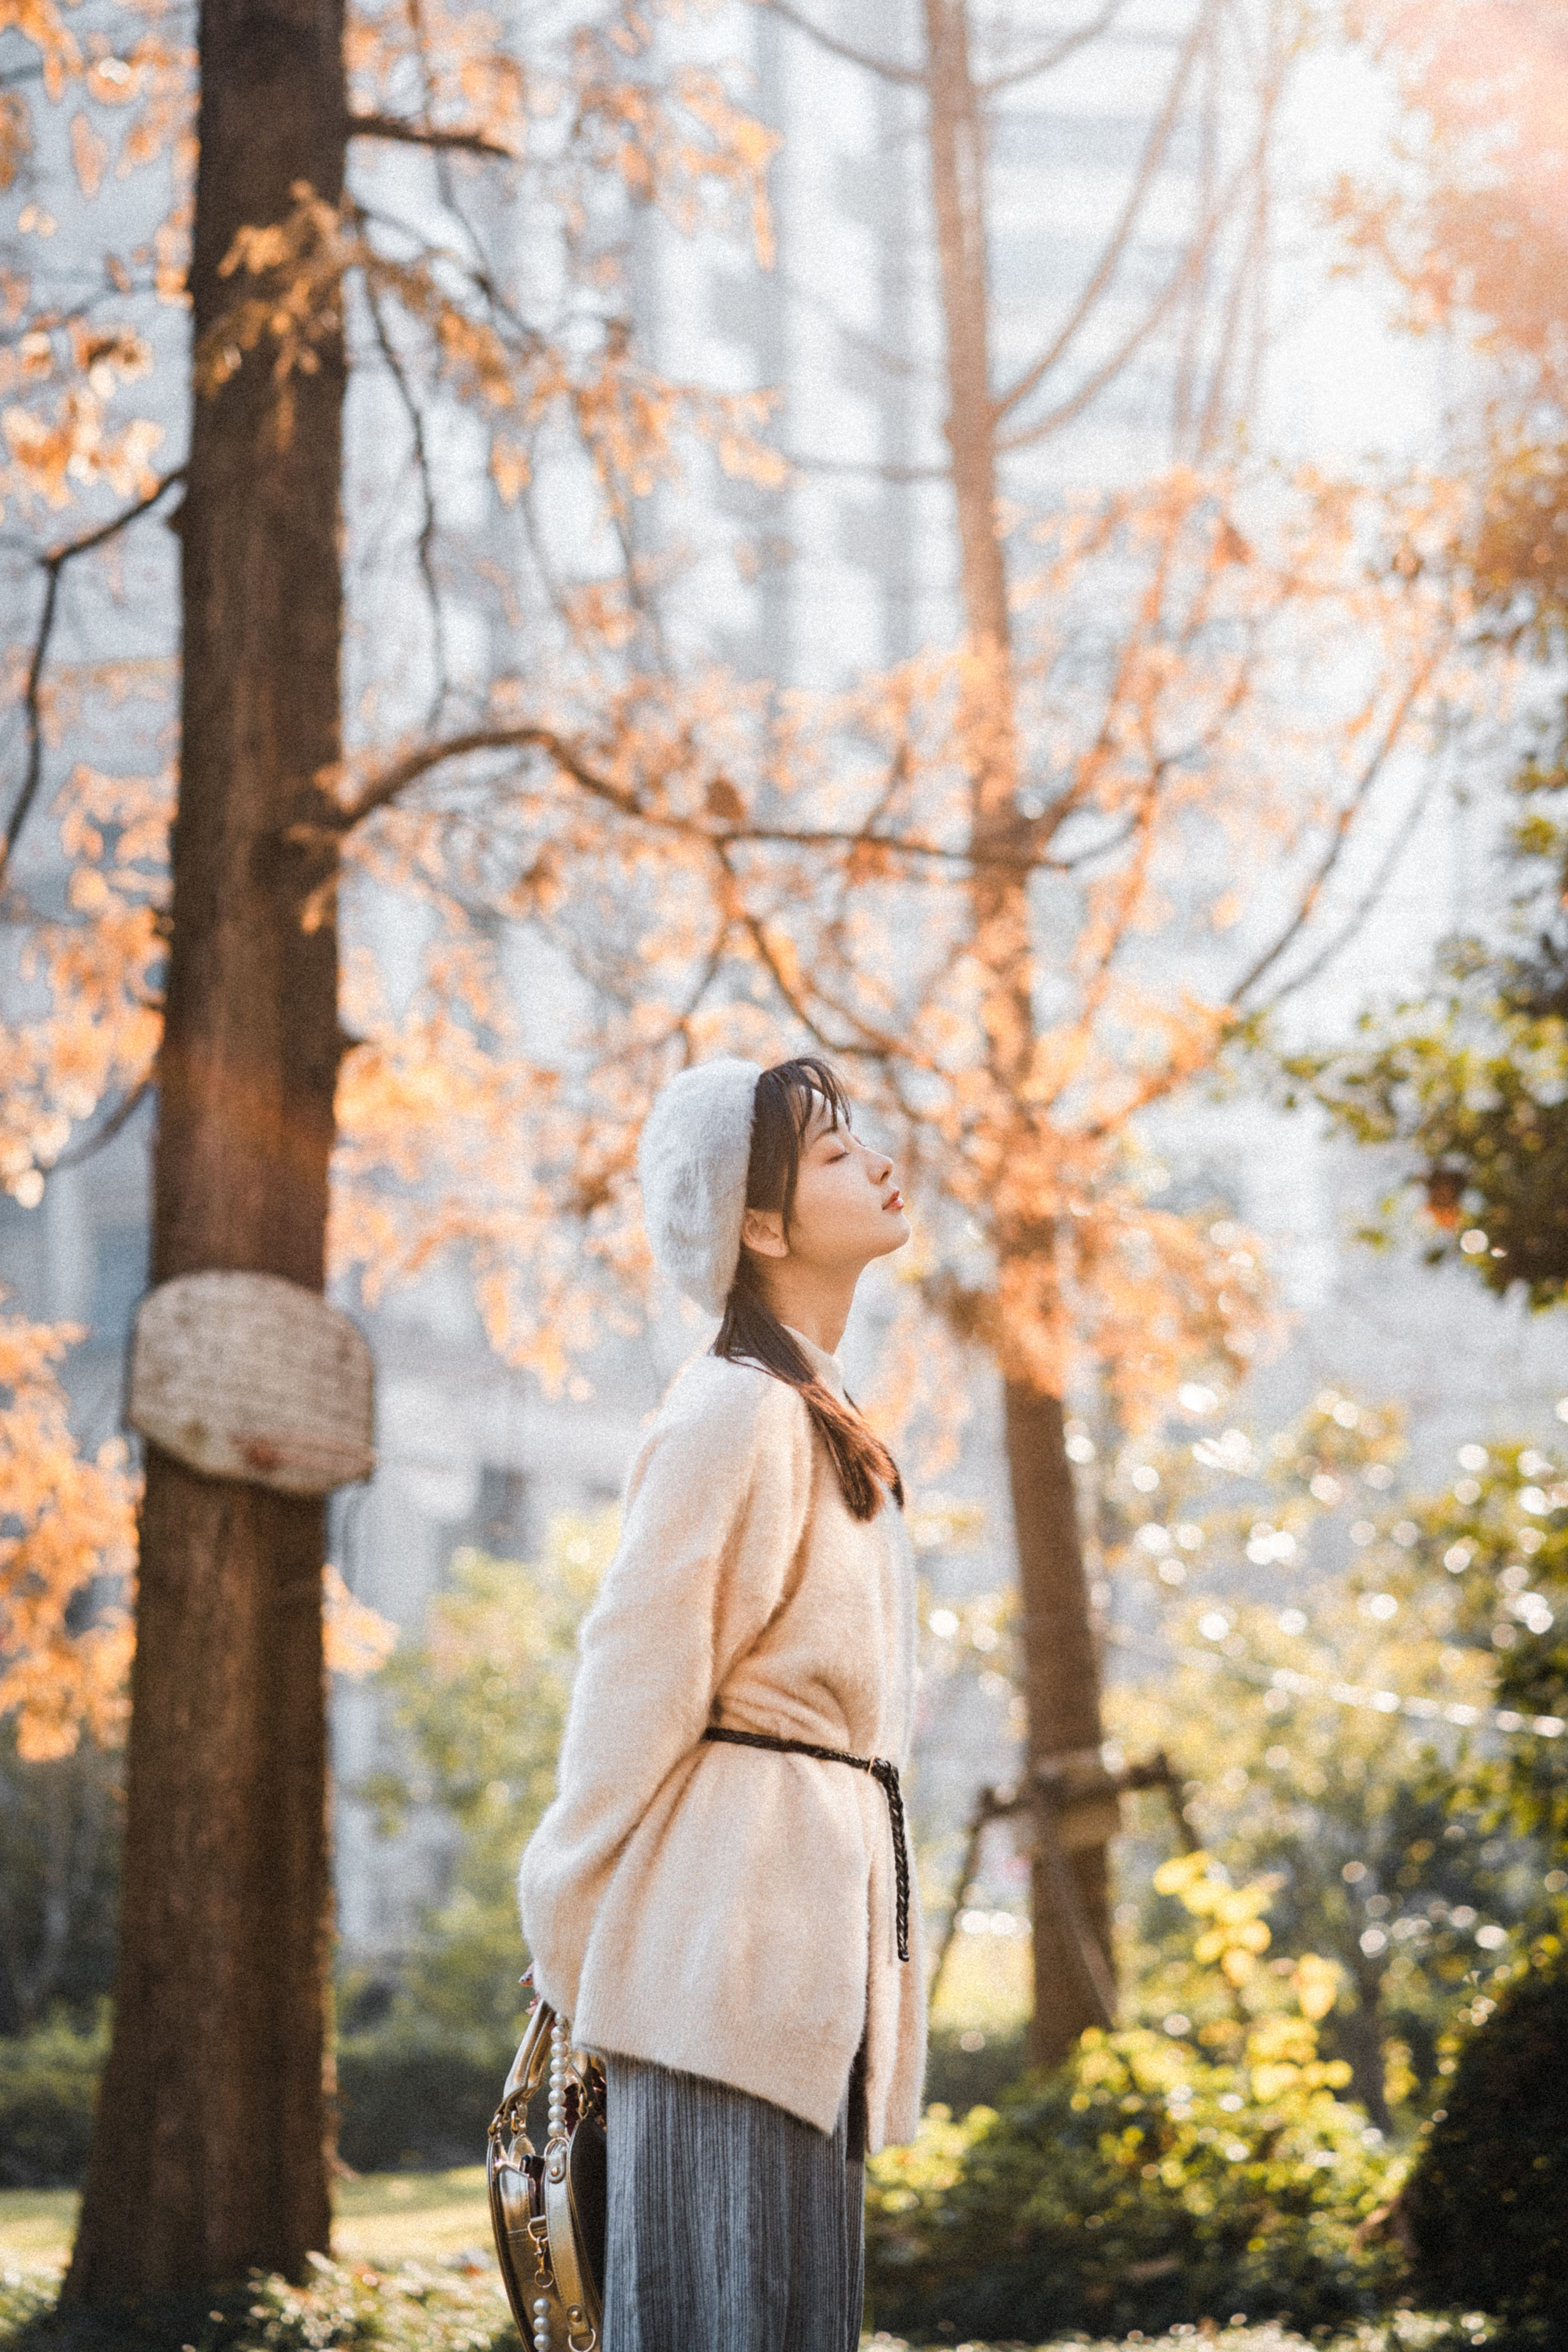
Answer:
M997 1240L997 1357L1006 1395L1006 1454L1018 1536L1030 1771L1100 1745L1100 1668L1065 1446L1053 1357L1037 1329L1060 1317L1056 1228L1039 1214L1041 1136L1030 1115L1034 957L1030 938L1030 823L1018 809L1018 720L997 515L997 407L990 383L990 268L985 249L985 125L969 64L966 0L926 0L931 205L947 343L947 447L959 520L966 682L964 743L976 858L976 962L985 993L987 1061L999 1122L992 1216ZM1060 1371L1056 1374L1060 1383ZM1084 1924L1110 1964L1107 1851L1070 1860ZM1060 1915L1044 1858L1034 1863L1034 2065L1063 2058L1103 2011L1079 1936Z

